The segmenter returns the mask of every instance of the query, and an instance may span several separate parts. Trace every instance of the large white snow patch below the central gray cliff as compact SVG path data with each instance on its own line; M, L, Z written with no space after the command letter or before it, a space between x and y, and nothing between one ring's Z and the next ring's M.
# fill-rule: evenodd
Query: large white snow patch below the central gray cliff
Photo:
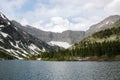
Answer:
M57 46L65 48L65 49L67 49L70 46L72 46L72 45L70 45L67 42L60 42L60 41L50 41L50 42L48 42L48 44L51 45L51 46L57 45Z

